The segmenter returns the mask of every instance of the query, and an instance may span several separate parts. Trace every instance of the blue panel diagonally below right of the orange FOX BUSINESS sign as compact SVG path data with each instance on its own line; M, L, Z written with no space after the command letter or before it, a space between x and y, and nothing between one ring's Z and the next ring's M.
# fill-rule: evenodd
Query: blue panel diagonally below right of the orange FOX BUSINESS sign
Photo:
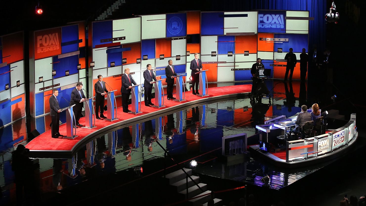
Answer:
M65 76L65 71L69 70L69 75L78 73L79 57L78 55L68 56L58 59L57 56L52 57L53 62L59 61L59 63L54 63L53 70L56 70L56 75L53 78L59 78Z

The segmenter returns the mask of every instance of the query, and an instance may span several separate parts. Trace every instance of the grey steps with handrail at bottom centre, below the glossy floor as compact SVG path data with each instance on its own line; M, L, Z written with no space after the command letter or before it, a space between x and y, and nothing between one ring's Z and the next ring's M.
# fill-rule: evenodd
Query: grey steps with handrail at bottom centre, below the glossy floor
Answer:
M197 187L197 185L194 184L194 182L188 177L188 199L201 196L204 194L209 194L211 191L208 190L207 184L200 183L200 178L198 176L192 175L192 170L183 168L184 171L188 173L192 177L192 179L198 184L199 187L203 190L203 192ZM164 178L164 176L163 176ZM167 184L170 185L172 190L178 193L179 199L177 199L177 202L180 200L187 198L187 187L186 187L186 174L180 169L178 171L169 173L165 176L165 181ZM202 196L199 198L192 199L185 203L185 205L188 206L196 206L199 204L203 204L205 206L208 205L208 201L211 199L211 195ZM214 205L215 206L222 206L223 201L221 199L214 199Z

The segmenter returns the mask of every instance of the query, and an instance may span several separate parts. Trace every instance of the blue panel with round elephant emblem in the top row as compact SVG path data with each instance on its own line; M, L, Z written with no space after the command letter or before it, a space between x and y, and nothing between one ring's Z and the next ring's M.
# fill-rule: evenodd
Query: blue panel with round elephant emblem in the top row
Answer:
M184 37L187 35L186 13L167 14L167 37Z

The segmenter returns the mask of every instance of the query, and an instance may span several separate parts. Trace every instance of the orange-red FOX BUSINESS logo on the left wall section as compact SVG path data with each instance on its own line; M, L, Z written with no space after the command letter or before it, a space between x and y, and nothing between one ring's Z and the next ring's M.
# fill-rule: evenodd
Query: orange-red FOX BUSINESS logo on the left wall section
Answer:
M58 49L60 49L58 33L37 36L37 53L49 52Z

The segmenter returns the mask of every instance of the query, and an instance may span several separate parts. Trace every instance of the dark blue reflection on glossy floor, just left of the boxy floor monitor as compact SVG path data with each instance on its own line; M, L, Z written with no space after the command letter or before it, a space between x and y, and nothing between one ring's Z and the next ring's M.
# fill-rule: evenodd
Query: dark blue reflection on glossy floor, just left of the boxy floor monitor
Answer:
M199 146L201 152L212 151L221 147L223 136L223 128L201 128L199 130Z

